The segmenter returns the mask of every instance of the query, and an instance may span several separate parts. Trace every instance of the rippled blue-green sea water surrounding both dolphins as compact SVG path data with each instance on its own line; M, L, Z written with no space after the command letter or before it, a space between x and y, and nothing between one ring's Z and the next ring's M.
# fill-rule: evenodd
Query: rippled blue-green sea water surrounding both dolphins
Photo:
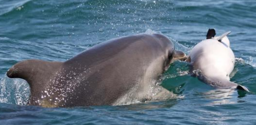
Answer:
M0 0L0 124L256 124L256 1ZM29 87L7 70L27 59L66 61L112 38L155 31L189 53L231 31L236 65L231 81L251 92L214 89L174 62L161 86L176 96L122 106L26 106Z

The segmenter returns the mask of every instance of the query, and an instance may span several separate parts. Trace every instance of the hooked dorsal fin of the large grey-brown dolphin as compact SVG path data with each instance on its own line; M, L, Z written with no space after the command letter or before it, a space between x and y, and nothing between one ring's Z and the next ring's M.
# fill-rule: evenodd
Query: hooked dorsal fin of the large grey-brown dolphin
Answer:
M21 78L28 82L30 91L40 91L53 74L61 67L62 62L48 62L41 60L25 60L12 66L7 76L9 78ZM40 91L41 92L41 91Z

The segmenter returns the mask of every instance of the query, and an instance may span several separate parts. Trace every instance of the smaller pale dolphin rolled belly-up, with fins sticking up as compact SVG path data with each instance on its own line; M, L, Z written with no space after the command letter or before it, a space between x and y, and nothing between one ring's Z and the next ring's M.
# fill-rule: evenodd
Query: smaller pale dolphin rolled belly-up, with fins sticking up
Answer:
M216 35L214 29L209 29L206 40L195 45L189 53L191 71L199 80L216 88L237 88L249 91L246 87L229 81L229 75L234 70L235 55L230 49L227 35Z

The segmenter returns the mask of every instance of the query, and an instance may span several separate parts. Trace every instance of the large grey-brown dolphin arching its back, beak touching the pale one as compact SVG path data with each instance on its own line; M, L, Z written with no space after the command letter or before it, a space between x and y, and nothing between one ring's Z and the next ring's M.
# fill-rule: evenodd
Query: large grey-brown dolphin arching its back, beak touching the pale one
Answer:
M172 96L156 82L173 57L185 57L181 51L174 52L166 36L138 34L103 42L66 62L21 61L7 76L28 82L29 105L129 104Z

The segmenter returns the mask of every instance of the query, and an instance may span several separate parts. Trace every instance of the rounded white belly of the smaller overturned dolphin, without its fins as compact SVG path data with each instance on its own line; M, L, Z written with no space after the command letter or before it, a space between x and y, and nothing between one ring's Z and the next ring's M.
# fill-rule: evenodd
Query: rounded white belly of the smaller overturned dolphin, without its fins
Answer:
M216 39L206 39L197 44L189 54L193 70L201 70L207 77L230 79L234 69L235 55L229 48Z

